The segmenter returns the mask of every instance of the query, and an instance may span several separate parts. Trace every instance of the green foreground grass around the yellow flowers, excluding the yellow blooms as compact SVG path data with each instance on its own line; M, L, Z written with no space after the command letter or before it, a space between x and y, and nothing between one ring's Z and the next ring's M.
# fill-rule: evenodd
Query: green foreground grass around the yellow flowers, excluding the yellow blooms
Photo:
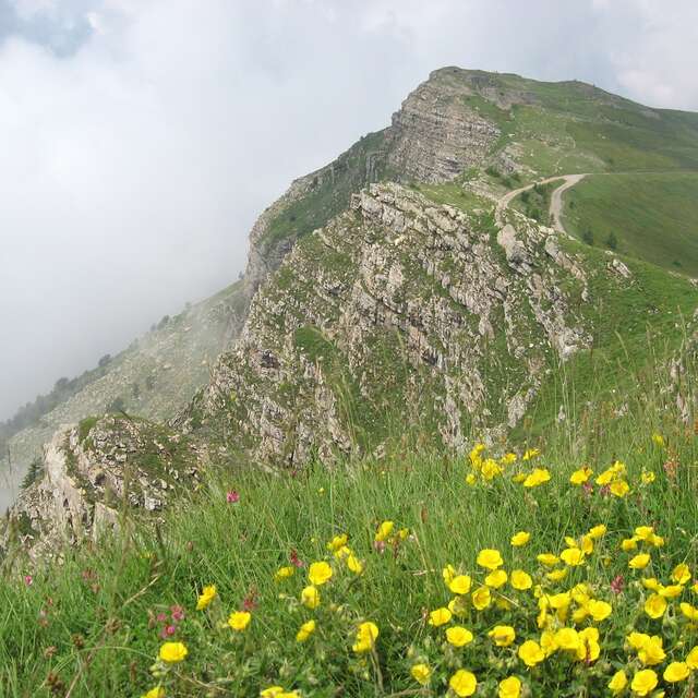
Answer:
M698 641L677 609L679 600L695 601L696 594L686 589L670 601L678 618L662 625L642 613L647 594L630 583L643 574L669 583L675 564L686 562L695 570L698 562L695 440L671 433L671 453L681 467L670 479L662 470L667 453L650 440L655 426L652 419L636 421L634 430L616 432L616 441L590 462L599 472L612 457L627 458L633 493L626 498L603 496L595 486L593 496L585 496L570 486L568 474L582 460L559 443L551 443L540 462L510 469L513 474L550 466L552 481L533 490L509 477L468 488L462 460L417 454L407 443L402 453L348 469L318 466L297 478L244 471L212 478L210 486L186 504L188 516L178 510L168 517L160 542L127 528L122 538L92 552L67 553L64 565L35 574L31 586L19 576L0 582L2 695L48 698L49 684L58 686L56 695L72 686L73 698L141 695L158 681L148 669L172 606L182 606L185 616L173 624L172 639L186 643L189 657L163 676L167 696L252 697L270 685L300 689L304 697L388 696L419 688L409 672L421 661L434 670L435 693L423 695L443 695L460 666L477 674L483 696L494 695L495 683L509 674L521 677L534 696L605 695L603 687L616 669L628 665L630 674L638 669L622 647L630 627L662 635L669 659L683 659ZM641 470L654 472L655 482L641 485ZM239 504L226 502L231 489L239 492ZM395 521L396 530L408 527L411 537L380 554L373 534L384 519ZM562 582L545 579L534 555L558 553L565 534L579 537L595 524L606 525L609 533L586 564L570 568ZM664 547L653 549L646 573L628 570L635 553L617 552L619 541L639 525L657 525L666 537ZM531 533L528 547L509 546L518 530ZM325 549L325 541L341 532L349 533L365 567L361 577ZM594 598L614 609L609 619L592 624L601 630L601 658L587 669L557 652L540 669L527 670L516 649L524 639L540 636L537 602L532 592L508 586L501 593L516 605L477 612L467 603L460 623L474 641L448 648L445 628L430 627L425 614L453 598L441 575L446 564L470 574L476 586L482 583L484 571L476 564L482 547L501 550L507 570L524 568L551 594L589 581ZM333 580L321 587L322 603L314 611L298 603L306 567L273 581L291 551L306 564L323 558L333 564ZM617 575L625 589L619 597L610 589ZM197 612L196 594L207 583L217 586L219 598ZM225 621L245 599L253 619L240 636ZM158 614L167 621L158 621ZM316 633L299 645L296 631L310 618L316 619ZM377 624L381 635L375 654L359 657L351 645L357 624L366 619ZM455 624L454 618L449 625ZM495 624L515 627L513 648L493 647L488 631ZM661 672L669 659L654 669Z

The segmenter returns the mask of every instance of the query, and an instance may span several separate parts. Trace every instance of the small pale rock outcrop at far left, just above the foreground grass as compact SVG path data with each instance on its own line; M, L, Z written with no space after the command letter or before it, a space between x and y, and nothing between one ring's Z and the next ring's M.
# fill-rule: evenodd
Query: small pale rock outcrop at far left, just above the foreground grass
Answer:
M44 477L10 508L0 549L19 543L48 558L63 541L96 539L121 513L157 516L198 480L203 454L183 435L144 420L104 417L57 431L44 452Z

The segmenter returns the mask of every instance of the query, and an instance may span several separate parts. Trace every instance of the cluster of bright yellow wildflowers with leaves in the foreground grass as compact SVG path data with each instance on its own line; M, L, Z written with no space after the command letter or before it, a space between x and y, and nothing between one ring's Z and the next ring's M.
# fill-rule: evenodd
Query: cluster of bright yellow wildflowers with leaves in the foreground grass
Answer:
M483 540L440 559L420 540L428 528L422 510L421 529L419 520L409 530L386 519L351 539L338 532L316 541L308 563L292 550L286 564L269 569L274 591L261 595L258 609L251 593L239 609L224 610L217 588L203 586L188 622L193 615L219 633L227 658L255 658L239 673L254 675L262 698L312 696L338 679L378 688L389 682L404 695L449 698L526 698L549 695L553 686L564 695L693 695L695 561L677 558L669 531L657 521L631 521L627 508L654 486L654 471L631 477L614 460L570 474L541 459L537 449L491 458L480 444L469 454L466 479L483 496L508 480L531 506L544 505L547 489L556 488L585 503L592 526L570 524L575 530L543 537L512 520L504 541ZM464 496L472 492L462 489ZM392 606L372 605L372 589L386 583L429 602L411 621L411 605L399 593ZM270 637L272 616L282 618L288 633ZM195 651L183 641L164 642L152 667L158 683L146 697L165 698L177 685L176 667ZM239 695L253 695L244 686Z

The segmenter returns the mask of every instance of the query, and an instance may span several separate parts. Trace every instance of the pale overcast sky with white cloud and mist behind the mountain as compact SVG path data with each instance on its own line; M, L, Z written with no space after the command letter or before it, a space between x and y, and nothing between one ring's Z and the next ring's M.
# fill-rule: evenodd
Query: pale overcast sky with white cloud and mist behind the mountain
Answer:
M698 110L695 0L0 0L0 419L234 280L443 65Z

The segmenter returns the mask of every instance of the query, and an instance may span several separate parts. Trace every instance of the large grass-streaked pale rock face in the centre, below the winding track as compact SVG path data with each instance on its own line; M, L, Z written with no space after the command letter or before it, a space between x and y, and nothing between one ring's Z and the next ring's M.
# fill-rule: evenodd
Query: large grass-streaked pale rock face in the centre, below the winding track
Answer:
M461 448L518 423L551 366L589 346L589 302L552 229L507 212L497 232L372 184L261 287L181 424L218 420L284 465L380 447L397 423Z

